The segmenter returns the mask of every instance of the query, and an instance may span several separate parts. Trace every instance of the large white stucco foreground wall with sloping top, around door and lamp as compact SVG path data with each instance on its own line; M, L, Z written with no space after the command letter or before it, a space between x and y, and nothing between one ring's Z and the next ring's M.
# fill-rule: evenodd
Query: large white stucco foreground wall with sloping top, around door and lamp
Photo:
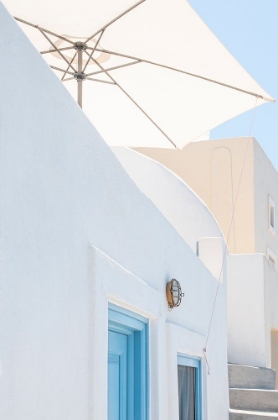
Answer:
M217 281L1 4L0 54L0 418L106 419L111 301L149 318L150 420L177 419L176 355L202 357ZM172 277L185 297L169 312ZM228 419L225 309L224 281L209 420Z

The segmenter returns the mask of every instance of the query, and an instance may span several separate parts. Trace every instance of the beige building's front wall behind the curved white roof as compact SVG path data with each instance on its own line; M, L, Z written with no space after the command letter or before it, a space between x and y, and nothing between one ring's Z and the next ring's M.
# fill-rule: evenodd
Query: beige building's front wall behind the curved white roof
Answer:
M261 216L255 217L254 178L259 182L254 177L255 147L255 139L244 137L190 143L183 150L136 150L179 175L214 214L230 253L245 254L258 252L255 223Z

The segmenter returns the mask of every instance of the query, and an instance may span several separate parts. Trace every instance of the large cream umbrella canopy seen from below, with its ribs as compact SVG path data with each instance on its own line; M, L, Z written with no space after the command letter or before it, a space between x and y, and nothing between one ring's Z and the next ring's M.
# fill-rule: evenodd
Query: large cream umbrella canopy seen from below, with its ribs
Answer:
M4 4L110 145L182 148L273 101L186 0Z

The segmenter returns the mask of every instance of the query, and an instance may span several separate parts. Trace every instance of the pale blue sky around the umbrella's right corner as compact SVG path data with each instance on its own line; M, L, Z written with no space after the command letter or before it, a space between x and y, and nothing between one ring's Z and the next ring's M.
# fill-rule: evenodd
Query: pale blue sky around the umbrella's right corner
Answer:
M278 0L189 0L253 78L278 100ZM252 112L211 131L211 138L247 136ZM278 170L278 105L257 108L252 135Z

